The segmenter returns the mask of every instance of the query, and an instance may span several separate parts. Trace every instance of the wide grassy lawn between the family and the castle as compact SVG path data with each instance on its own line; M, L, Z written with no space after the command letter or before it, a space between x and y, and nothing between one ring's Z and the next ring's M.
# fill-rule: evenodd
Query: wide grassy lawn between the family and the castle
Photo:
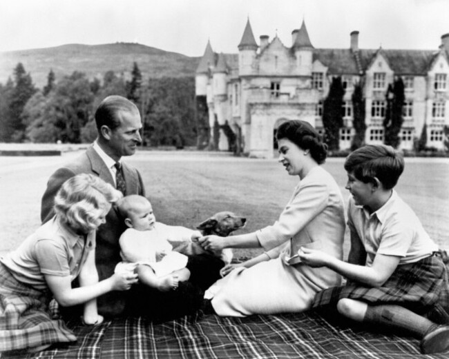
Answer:
M40 198L48 177L78 154L0 156L0 255L39 226ZM170 225L194 227L215 212L230 210L247 217L241 233L260 229L274 223L298 182L275 160L227 154L140 151L126 161L142 173L157 220ZM397 191L430 236L449 249L449 159L406 158L405 162ZM343 158L329 158L325 168L347 198ZM236 250L236 256L258 252Z

